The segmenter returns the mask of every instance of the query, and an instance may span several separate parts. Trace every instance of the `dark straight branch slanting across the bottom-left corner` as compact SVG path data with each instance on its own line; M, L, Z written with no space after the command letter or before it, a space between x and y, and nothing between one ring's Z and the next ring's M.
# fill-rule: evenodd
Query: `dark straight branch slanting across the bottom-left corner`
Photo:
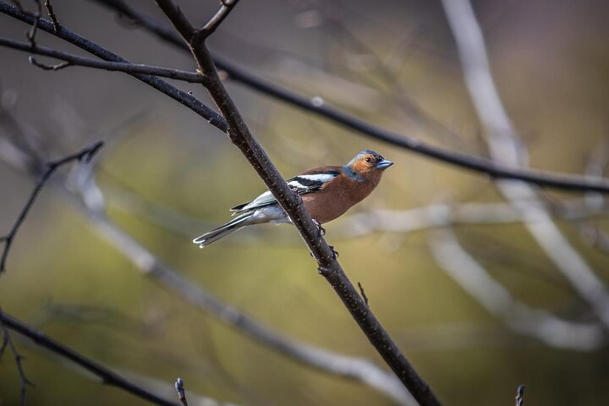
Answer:
M100 377L100 379L102 379L102 382L106 385L110 385L127 391L128 393L134 394L140 399L144 399L145 401L148 401L152 404L163 406L178 406L178 404L174 402L166 401L165 399L147 391L145 388L135 385L135 383L124 379L123 377L114 373L105 366L100 365L91 359L88 359L84 355L74 351L72 348L69 348L68 346L63 345L58 341L53 340L51 337L48 337L47 335L36 331L32 327L28 326L27 324L24 324L23 322L8 315L7 313L0 313L0 321L2 323L2 326L5 326L13 331L18 332L19 334L23 334L26 337L29 337L36 345L46 348L54 354L60 355L61 357L64 357L70 360L71 362L76 363L82 368L85 368L87 371L90 371L91 373Z

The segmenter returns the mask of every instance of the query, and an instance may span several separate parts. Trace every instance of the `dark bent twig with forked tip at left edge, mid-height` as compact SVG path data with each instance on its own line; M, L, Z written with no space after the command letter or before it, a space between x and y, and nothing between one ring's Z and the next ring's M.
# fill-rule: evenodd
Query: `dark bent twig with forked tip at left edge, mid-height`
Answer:
M65 156L64 158L58 159L57 161L52 161L46 164L46 169L44 170L40 178L38 178L36 186L33 188L32 193L30 194L30 197L26 202L26 205L21 210L21 213L19 213L19 217L17 217L17 220L10 229L9 234L4 236L4 250L2 251L2 257L0 259L0 273L2 273L5 269L6 259L9 256L9 250L13 243L13 239L15 239L19 227L26 219L27 213L32 208L32 205L38 197L38 194L42 190L44 183L49 180L49 177L51 177L53 172L55 172L58 167L64 164L67 164L71 161L82 161L83 159L87 162L90 161L90 159L93 158L93 155L95 155L95 153L102 147L102 145L104 145L104 142L97 141L95 144L91 145L90 147L86 147L80 152Z

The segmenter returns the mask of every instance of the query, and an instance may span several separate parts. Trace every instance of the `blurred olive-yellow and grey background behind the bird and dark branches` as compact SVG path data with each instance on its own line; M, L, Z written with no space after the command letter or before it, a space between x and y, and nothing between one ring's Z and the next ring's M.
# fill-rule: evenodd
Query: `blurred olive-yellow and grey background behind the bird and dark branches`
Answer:
M53 3L62 24L130 61L195 68L190 55L96 1ZM197 26L217 9L214 1L179 3ZM167 22L152 1L129 4ZM603 175L607 2L487 0L473 8L530 166ZM0 15L3 37L24 40L26 30ZM83 54L43 32L37 41ZM243 1L209 47L381 127L491 156L440 2ZM192 402L199 394L242 405L396 404L364 383L261 345L142 271L148 250L189 284L275 332L383 365L294 228L259 226L205 250L191 243L225 222L228 208L265 189L223 133L118 72L42 71L27 54L0 48L0 81L0 234L34 185L23 145L51 160L107 142L93 166L58 172L33 206L0 278L5 312L169 399L180 376ZM532 189L537 200L524 209L516 202L515 209L483 175L226 83L286 178L346 163L361 149L395 162L367 200L326 225L326 239L445 404L511 404L520 383L527 385L526 404L609 402L609 222L602 196ZM202 86L175 85L213 106ZM550 231L530 232L527 205L551 215ZM578 287L583 280L592 281L592 292ZM27 404L144 404L12 337L36 385ZM17 404L18 384L15 363L4 354L2 404Z

